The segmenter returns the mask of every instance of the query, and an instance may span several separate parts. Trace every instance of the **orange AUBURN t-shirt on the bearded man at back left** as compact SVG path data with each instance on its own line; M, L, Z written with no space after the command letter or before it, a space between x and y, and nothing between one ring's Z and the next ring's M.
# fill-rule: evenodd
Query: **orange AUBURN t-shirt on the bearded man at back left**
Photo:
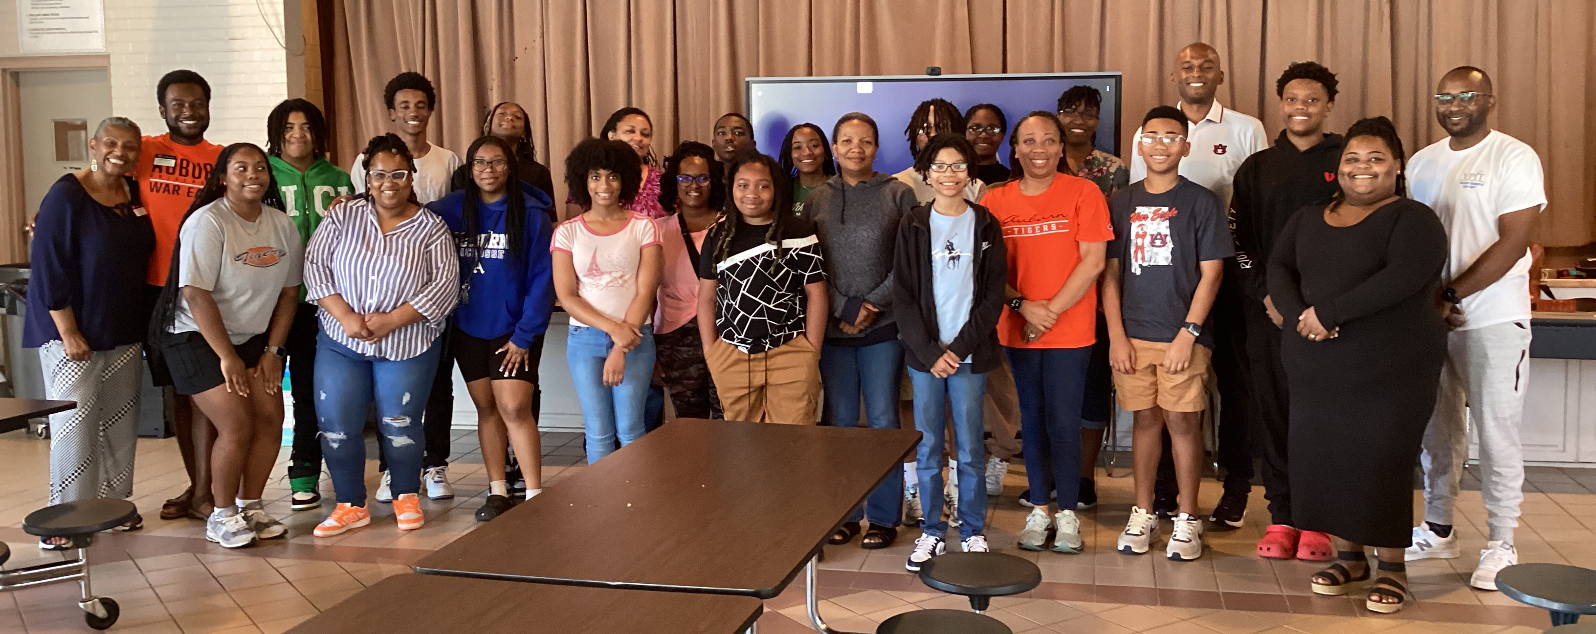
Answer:
M222 147L207 140L201 140L200 145L180 145L172 142L169 132L144 137L144 147L139 150L139 201L155 225L155 253L150 253L147 282L156 287L166 284L184 213L204 186L204 178L211 175L219 155Z

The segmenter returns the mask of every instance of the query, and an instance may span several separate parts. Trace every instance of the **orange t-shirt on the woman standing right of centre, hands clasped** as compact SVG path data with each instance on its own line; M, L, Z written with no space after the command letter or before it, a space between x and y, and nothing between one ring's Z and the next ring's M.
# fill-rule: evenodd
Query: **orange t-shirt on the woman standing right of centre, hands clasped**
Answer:
M1026 299L1052 299L1080 264L1079 242L1114 239L1108 202L1090 180L1060 174L1036 196L1020 193L1012 180L982 199L1002 225L1009 249L1009 285ZM1025 317L1007 307L998 320L998 341L1009 347L1085 347L1096 342L1096 285L1087 288L1058 322L1025 342Z

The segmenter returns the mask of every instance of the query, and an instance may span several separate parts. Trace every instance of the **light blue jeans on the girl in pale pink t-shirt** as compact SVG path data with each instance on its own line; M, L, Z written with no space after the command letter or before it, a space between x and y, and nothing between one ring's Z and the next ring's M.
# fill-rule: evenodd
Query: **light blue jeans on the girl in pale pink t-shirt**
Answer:
M565 362L576 384L576 400L583 405L583 430L587 433L587 464L614 452L643 436L648 389L654 378L654 331L643 328L643 341L626 354L621 384L603 384L603 362L614 342L603 330L570 327L565 339Z

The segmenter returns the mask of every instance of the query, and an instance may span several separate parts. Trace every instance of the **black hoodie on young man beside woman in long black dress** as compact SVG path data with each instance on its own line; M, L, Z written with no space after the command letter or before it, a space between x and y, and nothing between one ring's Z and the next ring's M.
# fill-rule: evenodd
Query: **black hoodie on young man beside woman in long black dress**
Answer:
M1262 303L1269 295L1269 253L1286 221L1309 204L1328 204L1341 190L1336 170L1344 145L1339 134L1326 134L1318 145L1301 151L1280 131L1274 147L1248 156L1235 170L1229 209L1235 264L1224 279L1234 279L1248 299Z

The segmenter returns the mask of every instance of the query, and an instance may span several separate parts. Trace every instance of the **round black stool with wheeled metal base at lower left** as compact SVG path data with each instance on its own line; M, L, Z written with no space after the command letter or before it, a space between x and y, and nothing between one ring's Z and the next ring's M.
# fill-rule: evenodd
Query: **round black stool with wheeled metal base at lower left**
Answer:
M78 601L78 607L85 612L83 621L94 629L110 628L117 623L121 610L110 597L96 597L89 586L89 545L94 542L96 532L121 526L136 515L139 515L139 508L132 502L113 499L57 503L29 513L22 519L22 530L37 537L65 537L72 540L70 548L78 551L78 558L0 570L0 589L78 581L83 589L81 601ZM3 546L5 543L0 543L0 548ZM8 548L0 550L0 564L5 564L8 556Z

